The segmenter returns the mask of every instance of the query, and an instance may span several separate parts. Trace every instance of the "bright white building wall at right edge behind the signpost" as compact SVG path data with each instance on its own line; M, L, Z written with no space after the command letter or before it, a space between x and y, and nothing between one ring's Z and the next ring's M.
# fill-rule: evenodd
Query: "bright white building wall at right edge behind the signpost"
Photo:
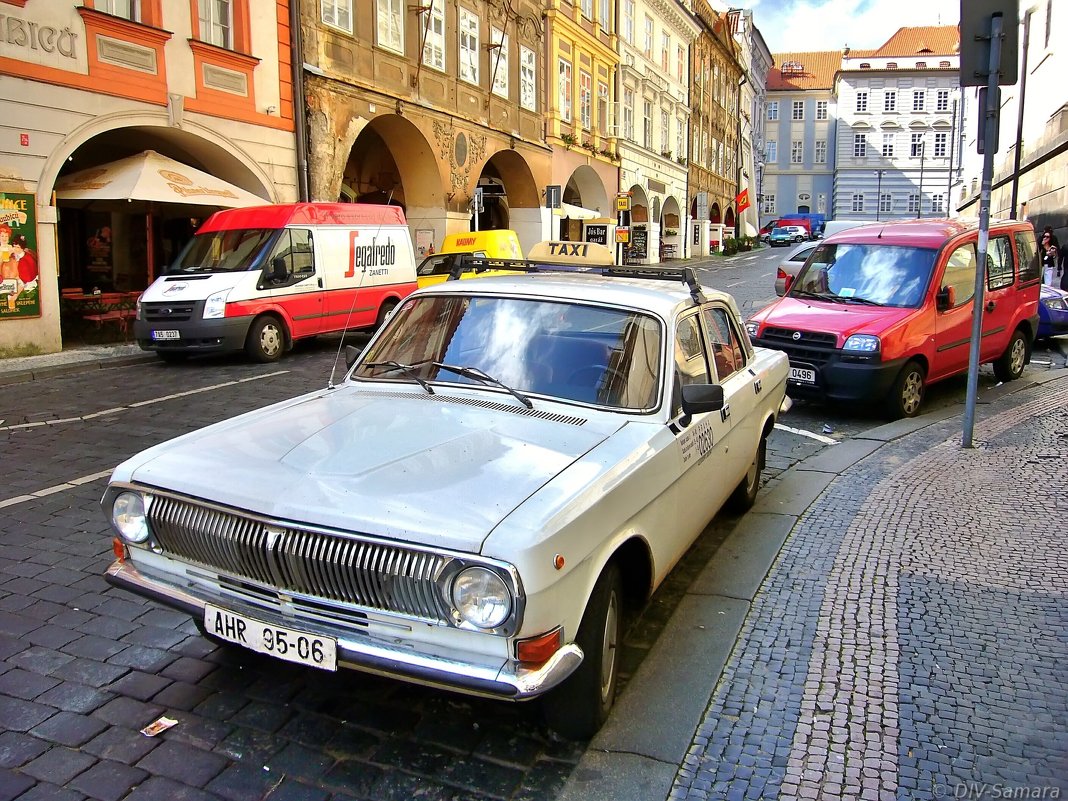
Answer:
M1031 220L1068 244L1068 9L1043 0L1020 20L1019 81L1002 87L1000 148L994 155L990 214ZM978 103L968 91L963 183L955 194L962 216L978 217L983 156L976 147Z

